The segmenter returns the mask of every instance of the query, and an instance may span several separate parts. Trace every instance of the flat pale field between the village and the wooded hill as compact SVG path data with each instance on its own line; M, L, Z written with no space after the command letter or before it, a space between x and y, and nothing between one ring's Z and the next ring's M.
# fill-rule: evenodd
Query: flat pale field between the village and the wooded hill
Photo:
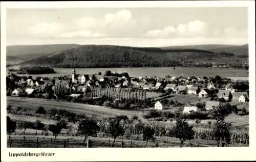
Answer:
M199 68L199 67L176 67L176 69L170 67L148 67L148 68L76 68L77 74L97 74L101 72L104 74L106 70L112 72L128 72L133 77L150 77L158 76L165 77L170 76L216 76L223 77L248 77L247 70L244 69L222 69L222 68ZM54 68L55 74L41 74L43 77L56 77L56 76L68 76L71 77L73 68ZM197 74L195 74L195 71ZM22 75L22 74L20 74ZM38 76L38 75L31 75Z

